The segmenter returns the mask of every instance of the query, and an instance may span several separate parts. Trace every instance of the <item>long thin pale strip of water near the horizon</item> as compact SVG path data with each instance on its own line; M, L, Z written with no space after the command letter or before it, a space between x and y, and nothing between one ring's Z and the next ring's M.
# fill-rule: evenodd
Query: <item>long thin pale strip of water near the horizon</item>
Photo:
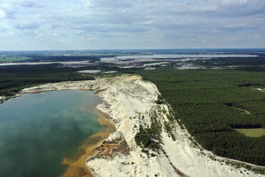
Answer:
M250 54L153 54L153 55L130 55L101 58L101 61L116 61L125 59L157 59L157 58L217 58L217 57L255 57Z

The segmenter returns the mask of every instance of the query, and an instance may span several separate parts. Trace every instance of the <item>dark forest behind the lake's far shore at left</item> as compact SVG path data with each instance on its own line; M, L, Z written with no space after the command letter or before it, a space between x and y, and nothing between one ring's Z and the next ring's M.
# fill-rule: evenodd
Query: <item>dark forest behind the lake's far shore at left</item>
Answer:
M36 66L1 66L0 96L13 96L28 86L61 81L93 80L93 75L80 74L80 69L58 68L57 64Z

